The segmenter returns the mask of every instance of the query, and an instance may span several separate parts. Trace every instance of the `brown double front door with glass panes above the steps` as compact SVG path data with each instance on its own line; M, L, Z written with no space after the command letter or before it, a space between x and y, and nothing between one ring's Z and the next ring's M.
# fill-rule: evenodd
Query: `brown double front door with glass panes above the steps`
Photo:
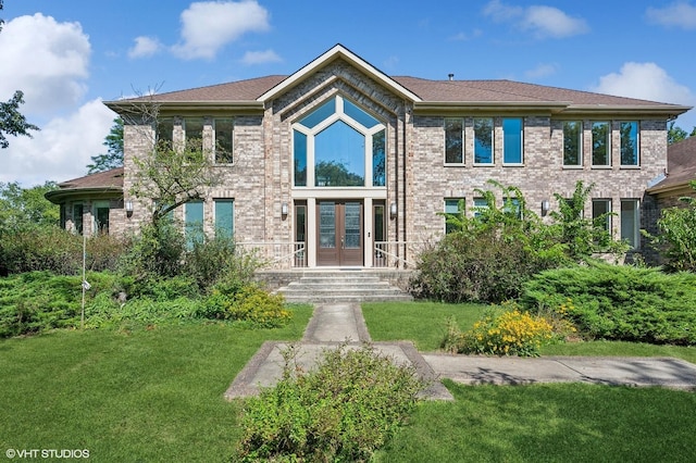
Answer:
M362 202L316 202L316 264L363 265Z

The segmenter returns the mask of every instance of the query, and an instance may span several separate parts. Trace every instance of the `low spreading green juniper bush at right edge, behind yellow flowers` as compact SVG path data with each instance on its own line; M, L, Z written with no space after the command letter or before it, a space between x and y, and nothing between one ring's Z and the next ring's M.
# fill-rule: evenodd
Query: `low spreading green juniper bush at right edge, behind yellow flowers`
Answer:
M569 303L570 301L570 303ZM696 343L696 275L589 263L550 270L525 285L530 310L566 304L580 334L652 343Z

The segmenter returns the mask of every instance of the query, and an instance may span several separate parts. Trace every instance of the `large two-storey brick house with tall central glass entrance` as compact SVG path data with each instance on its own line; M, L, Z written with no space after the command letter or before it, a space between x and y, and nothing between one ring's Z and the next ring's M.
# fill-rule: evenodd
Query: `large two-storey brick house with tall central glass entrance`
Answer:
M470 210L488 179L519 187L542 216L557 208L555 192L595 184L586 214L616 213L607 226L639 248L646 189L668 167L667 122L689 109L510 80L389 76L340 45L289 76L105 104L125 121L123 191L134 204L125 214L113 200L112 230L149 220L151 204L128 193L134 159L156 139L201 138L223 180L176 216L233 232L286 267L410 260L445 233L437 212L462 199ZM157 104L157 127L133 117L146 104Z

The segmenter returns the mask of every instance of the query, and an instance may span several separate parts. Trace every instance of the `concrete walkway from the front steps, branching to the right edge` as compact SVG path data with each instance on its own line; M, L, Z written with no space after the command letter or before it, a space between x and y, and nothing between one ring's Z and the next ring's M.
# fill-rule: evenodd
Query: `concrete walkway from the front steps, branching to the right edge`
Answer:
M293 352L297 366L307 371L326 349L370 342L398 364L412 364L431 386L428 399L451 400L439 379L468 385L530 385L591 383L624 386L662 386L696 390L696 365L671 358L497 358L420 353L411 342L372 342L359 303L320 304L314 309L300 342L266 341L234 379L228 400L259 393L283 373L284 352Z

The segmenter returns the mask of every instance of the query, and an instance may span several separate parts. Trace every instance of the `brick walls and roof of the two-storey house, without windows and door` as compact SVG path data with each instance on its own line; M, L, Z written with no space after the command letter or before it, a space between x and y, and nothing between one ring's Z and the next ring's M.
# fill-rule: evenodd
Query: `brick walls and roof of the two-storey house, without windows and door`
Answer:
M384 126L385 187L294 186L293 124L335 96L350 100ZM182 102L186 104L182 105ZM125 111L126 103L107 104L119 112ZM396 216L385 218L385 240L427 241L444 233L444 218L437 214L444 210L444 200L464 198L469 209L477 197L476 189L494 189L487 184L489 179L519 187L527 207L539 215L545 200L550 202L551 209L557 208L554 193L570 197L577 180L594 184L592 197L610 200L616 214L621 213L622 200L638 200L642 226L649 227L657 207L646 197L646 188L667 170L667 121L686 110L685 107L507 80L391 78L340 46L285 78L270 76L164 93L158 104L163 114L175 117L175 139L183 137L181 121L184 117L203 116L204 137L212 136L213 117L234 117L235 161L232 165L215 167L222 174L222 182L208 191L203 204L207 232L213 230L214 200L234 199L238 241L291 242L296 234L296 204L306 204L310 266L316 264L313 253L319 232L314 208L320 201L348 198L364 207L361 239L366 249L364 265L371 266L374 246L371 207L382 204L388 210L391 204L396 205ZM460 165L445 163L446 117L462 121L463 162ZM473 162L474 117L494 121L494 162L490 165ZM502 162L505 117L522 120L521 164L505 165ZM582 165L563 166L563 121L582 121ZM608 122L611 128L608 166L592 165L593 122ZM621 122L638 124L637 166L621 165ZM146 124L129 122L124 127L123 190L126 199L130 198L133 160L147 155L153 136L152 128ZM147 201L136 204L129 217L122 213L113 215L114 230L137 229L149 220L151 204ZM286 215L281 213L283 204L289 208ZM591 204L587 208L585 212L591 216ZM178 218L184 217L183 211L176 214ZM617 235L620 223L619 216L612 221Z

